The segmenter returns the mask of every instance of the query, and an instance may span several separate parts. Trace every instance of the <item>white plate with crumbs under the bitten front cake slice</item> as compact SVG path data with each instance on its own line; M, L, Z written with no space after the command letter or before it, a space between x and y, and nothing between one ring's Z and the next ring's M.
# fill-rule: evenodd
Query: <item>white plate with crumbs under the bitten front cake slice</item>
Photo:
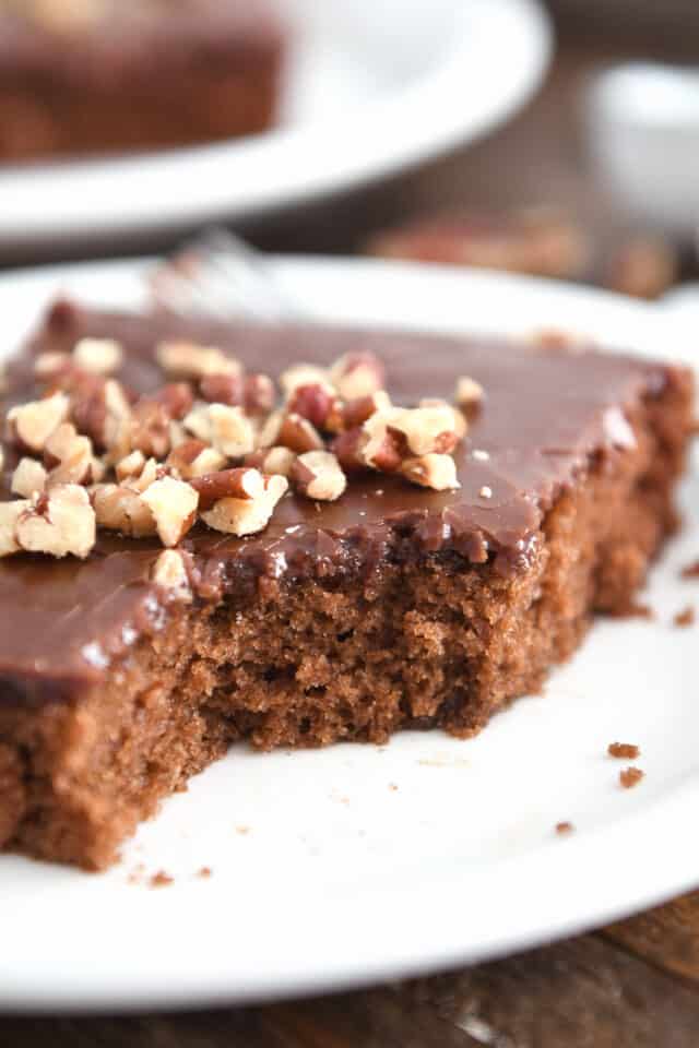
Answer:
M138 306L143 263L8 274L5 345L58 289ZM695 325L543 281L380 262L286 260L309 317L440 331L564 326L640 354L696 355ZM104 876L0 857L0 1007L144 1009L325 990L521 950L699 880L699 602L687 526L643 595L655 620L604 621L544 694L477 738L256 754L245 747L169 799ZM615 740L647 776L618 784ZM556 836L571 820L574 834ZM198 877L211 867L210 879ZM149 886L164 870L174 882Z

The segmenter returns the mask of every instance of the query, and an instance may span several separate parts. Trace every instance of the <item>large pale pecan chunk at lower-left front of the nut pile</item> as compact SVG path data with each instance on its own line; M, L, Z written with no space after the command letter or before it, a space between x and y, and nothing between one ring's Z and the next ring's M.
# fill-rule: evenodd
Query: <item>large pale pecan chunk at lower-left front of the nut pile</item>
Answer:
M20 515L15 538L27 552L84 559L96 539L95 512L84 488L57 484Z

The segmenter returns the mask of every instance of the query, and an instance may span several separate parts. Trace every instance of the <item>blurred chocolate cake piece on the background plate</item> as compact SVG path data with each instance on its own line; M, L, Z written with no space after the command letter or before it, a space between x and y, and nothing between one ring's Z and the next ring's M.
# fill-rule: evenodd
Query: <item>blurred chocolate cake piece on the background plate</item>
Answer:
M0 159L262 131L284 49L271 0L0 0Z

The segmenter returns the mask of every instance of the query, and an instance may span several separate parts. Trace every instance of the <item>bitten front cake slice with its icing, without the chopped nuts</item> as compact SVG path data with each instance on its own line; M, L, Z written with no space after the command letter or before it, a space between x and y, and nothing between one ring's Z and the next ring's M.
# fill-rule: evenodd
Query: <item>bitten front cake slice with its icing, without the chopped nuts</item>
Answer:
M8 368L3 414L40 392L37 355L117 340L118 378L159 388L155 347L217 346L277 377L371 353L396 403L484 396L453 450L460 487L377 472L320 502L289 491L248 537L179 544L191 599L153 582L154 538L99 532L86 559L0 560L0 844L103 868L140 819L247 739L260 748L479 730L624 614L672 532L691 430L682 368L525 344L254 329L59 303ZM4 490L20 452L4 446ZM235 805L235 798L232 798Z

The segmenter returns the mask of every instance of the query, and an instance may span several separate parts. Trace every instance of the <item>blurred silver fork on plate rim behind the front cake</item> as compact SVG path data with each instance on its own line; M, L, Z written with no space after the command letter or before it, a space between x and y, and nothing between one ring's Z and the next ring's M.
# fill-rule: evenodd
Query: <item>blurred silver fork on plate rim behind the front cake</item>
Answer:
M303 319L264 255L227 229L189 241L149 275L157 306L180 315L279 324Z

